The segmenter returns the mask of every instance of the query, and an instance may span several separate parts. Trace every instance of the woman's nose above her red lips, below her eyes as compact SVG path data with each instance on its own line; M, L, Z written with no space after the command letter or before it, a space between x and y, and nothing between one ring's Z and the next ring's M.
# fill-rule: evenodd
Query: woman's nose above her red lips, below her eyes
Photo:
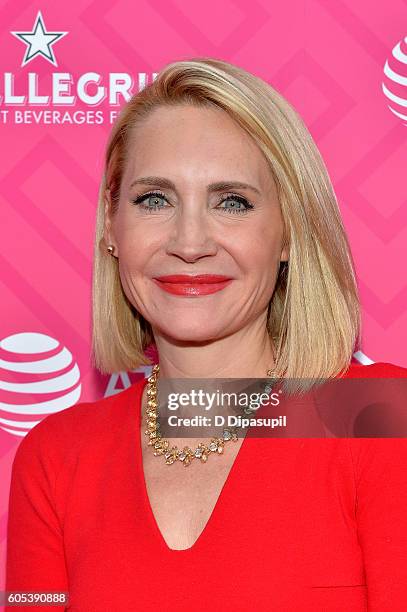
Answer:
M166 252L185 261L215 255L217 244L210 228L207 212L185 209L175 215L169 233Z

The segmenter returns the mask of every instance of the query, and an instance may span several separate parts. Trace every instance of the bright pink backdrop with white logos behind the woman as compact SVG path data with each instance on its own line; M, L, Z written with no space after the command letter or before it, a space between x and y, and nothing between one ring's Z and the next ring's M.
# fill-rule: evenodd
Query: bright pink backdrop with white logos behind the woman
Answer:
M0 2L0 590L22 437L144 375L89 363L98 181L120 83L135 93L170 61L212 56L278 89L338 195L363 304L355 358L407 366L406 34L405 0Z

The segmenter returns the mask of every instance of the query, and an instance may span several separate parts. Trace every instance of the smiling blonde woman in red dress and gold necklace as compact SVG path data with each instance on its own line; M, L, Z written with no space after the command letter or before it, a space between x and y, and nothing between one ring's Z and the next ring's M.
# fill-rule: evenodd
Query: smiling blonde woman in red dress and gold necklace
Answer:
M154 343L159 370L22 441L7 590L69 591L75 612L406 609L404 439L155 446L160 380L406 376L351 364L359 301L335 195L270 85L198 58L128 102L107 147L93 297L95 366L148 365Z

